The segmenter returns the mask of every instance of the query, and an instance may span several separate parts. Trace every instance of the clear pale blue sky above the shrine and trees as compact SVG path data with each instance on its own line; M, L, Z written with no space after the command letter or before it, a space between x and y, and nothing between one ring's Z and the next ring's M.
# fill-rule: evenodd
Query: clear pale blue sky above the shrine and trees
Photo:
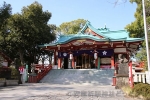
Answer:
M5 0L11 4L12 12L21 12L24 6L28 6L35 0ZM52 13L49 24L59 26L63 22L76 19L89 20L95 28L104 27L110 30L122 30L127 24L135 20L136 4L129 0L115 6L116 0L36 0L43 6L43 10ZM1 1L1 5L3 1Z

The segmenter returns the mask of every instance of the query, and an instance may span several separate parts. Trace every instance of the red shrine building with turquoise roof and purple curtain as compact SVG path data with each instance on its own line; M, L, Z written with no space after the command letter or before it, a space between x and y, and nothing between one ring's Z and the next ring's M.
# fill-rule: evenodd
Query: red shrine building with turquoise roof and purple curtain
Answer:
M106 69L128 62L143 40L130 38L126 30L96 29L87 21L77 34L60 35L55 43L40 47L54 52L58 69Z

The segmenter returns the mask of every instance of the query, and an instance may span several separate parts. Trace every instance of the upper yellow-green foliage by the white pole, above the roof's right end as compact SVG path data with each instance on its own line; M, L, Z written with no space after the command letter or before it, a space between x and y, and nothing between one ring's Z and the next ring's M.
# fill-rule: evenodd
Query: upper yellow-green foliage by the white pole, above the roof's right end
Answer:
M130 0L131 3L136 3L137 8L134 14L136 20L131 24L128 24L125 29L130 33L131 37L144 37L144 22L143 22L143 8L142 0ZM150 24L150 2L145 0L145 9L146 9L146 20L147 25Z

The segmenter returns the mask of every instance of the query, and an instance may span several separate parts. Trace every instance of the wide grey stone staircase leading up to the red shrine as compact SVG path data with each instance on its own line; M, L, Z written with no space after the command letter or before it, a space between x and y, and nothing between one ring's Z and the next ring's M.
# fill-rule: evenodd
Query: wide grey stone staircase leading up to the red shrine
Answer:
M114 69L52 69L40 83L112 85Z

